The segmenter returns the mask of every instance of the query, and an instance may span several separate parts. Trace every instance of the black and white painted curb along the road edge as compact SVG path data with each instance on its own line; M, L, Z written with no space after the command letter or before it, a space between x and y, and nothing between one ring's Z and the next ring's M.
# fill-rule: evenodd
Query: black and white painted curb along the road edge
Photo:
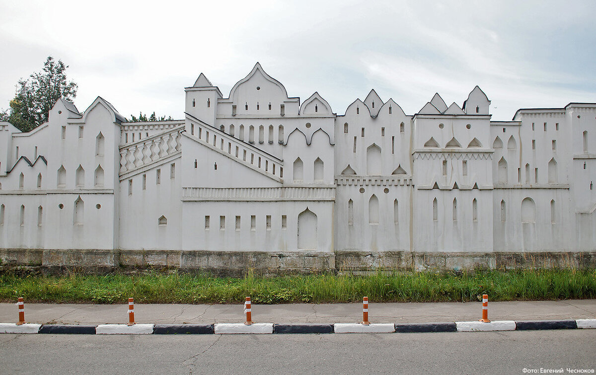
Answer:
M596 329L596 319L577 320L496 320L446 323L244 323L215 324L33 324L0 323L0 333L67 333L86 335L210 335L225 333L416 333L477 332L545 329Z

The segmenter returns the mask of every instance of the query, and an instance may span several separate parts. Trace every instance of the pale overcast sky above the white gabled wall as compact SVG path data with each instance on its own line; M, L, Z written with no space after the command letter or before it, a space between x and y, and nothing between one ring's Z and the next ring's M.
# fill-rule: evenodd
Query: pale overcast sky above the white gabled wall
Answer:
M0 108L48 55L70 65L85 110L183 118L203 72L224 96L259 61L288 95L337 114L375 89L414 114L479 85L493 120L596 102L594 1L0 0Z

